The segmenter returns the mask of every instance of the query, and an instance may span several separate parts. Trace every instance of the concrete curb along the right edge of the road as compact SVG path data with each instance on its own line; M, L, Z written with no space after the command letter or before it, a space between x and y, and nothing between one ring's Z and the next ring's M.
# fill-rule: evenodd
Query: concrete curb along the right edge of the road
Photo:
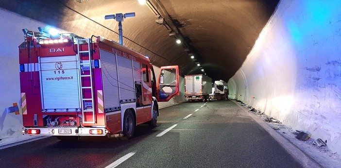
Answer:
M231 100L233 101L233 100ZM273 128L264 122L258 116L251 114L249 110L245 107L240 105L238 102L233 101L236 103L241 109L243 109L250 117L252 117L261 127L263 127L273 138L286 150L290 153L295 160L300 163L304 168L323 168L319 163L317 163L314 159L309 157L304 151L300 150L296 145L291 143L289 139L284 137L282 134L279 134Z

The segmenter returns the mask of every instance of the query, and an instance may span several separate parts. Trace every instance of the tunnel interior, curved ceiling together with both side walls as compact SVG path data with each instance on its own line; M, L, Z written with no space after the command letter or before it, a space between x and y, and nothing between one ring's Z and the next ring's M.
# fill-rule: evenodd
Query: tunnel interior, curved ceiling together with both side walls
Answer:
M229 99L341 152L339 0L1 0L0 134L21 132L18 46L22 29L53 26L119 41L153 66L228 81ZM179 39L181 42L176 43ZM186 101L181 94L164 106ZM15 104L16 103L16 104Z

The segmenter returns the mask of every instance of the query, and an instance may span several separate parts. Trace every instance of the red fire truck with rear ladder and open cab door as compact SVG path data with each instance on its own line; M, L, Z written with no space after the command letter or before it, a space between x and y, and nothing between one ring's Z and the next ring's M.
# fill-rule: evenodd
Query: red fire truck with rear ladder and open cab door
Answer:
M158 101L179 95L178 66L161 67L156 84L149 58L116 42L23 31L23 134L131 138L138 124L156 126Z

